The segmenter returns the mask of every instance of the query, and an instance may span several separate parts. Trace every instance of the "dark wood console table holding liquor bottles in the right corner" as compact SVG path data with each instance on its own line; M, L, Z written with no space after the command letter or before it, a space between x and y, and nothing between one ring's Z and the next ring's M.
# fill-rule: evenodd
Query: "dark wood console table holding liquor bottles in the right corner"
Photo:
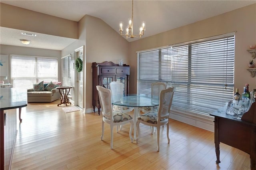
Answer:
M242 120L227 115L224 108L210 114L214 116L214 142L216 163L220 163L220 142L250 154L250 168L256 169L256 102Z

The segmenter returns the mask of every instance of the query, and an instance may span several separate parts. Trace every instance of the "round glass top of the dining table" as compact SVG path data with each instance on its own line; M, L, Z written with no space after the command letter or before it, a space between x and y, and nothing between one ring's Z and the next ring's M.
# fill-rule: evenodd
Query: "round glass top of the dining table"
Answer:
M154 107L159 105L158 96L127 94L112 96L112 104L129 107Z

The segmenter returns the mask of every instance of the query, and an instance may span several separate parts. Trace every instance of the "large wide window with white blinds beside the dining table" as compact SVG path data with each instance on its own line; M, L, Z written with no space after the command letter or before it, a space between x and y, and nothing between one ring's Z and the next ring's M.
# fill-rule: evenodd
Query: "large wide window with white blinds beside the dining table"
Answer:
M151 83L176 87L172 109L209 114L232 100L234 34L138 52L137 93Z

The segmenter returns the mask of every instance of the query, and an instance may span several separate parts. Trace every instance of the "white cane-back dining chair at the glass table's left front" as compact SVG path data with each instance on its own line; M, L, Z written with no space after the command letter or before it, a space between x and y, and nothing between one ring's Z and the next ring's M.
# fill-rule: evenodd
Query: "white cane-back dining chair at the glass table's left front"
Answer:
M96 89L98 90L100 106L102 109L101 140L103 140L103 135L104 135L104 123L107 123L110 125L110 148L112 149L113 148L113 127L130 123L129 137L131 142L133 142L133 138L132 138L133 118L126 113L113 111L110 89L106 89L98 85L96 86Z

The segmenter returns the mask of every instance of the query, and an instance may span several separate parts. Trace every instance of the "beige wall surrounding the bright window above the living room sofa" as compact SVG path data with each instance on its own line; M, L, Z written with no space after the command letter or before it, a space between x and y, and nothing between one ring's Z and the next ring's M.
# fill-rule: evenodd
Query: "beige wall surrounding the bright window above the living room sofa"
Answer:
M12 45L0 45L0 53L9 56L9 67L8 67L8 77L11 76L10 69L10 54L16 55L29 55L37 57L57 57L58 58L58 68L61 68L61 51L52 49L41 49L41 48L30 48L30 47L18 47ZM10 80L9 80L10 81ZM58 81L61 81L61 72L58 70Z

